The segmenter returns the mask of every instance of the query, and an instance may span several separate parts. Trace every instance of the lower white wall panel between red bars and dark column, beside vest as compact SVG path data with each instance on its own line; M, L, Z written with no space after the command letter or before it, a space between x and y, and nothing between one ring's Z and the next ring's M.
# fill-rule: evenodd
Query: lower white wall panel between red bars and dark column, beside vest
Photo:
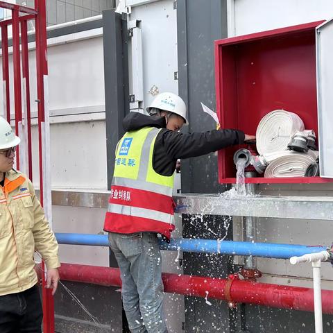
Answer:
M53 189L106 189L105 121L53 123L51 184ZM37 141L37 126L33 127ZM33 146L33 182L39 184L38 150Z

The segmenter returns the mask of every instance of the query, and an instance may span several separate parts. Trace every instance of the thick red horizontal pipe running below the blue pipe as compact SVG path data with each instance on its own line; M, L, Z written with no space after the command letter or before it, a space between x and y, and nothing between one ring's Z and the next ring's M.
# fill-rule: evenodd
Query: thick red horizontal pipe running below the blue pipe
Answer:
M60 278L66 281L99 284L101 286L121 287L119 268L61 264ZM185 296L197 296L226 300L225 287L227 279L203 278L200 276L163 273L164 291ZM311 288L282 286L233 280L230 287L232 302L251 303L294 309L314 311L314 291ZM333 314L333 291L322 291L323 313Z

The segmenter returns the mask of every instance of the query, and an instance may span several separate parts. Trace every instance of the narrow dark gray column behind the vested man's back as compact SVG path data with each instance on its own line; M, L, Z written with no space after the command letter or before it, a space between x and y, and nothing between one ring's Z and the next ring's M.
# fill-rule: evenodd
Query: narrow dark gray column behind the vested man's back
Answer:
M128 48L126 18L114 10L103 11L103 52L105 81L105 126L108 167L108 189L111 187L114 171L114 151L123 135L122 120L130 111L128 102ZM110 250L110 267L117 267L117 261ZM118 292L117 309L119 321L117 330L128 333L126 315L121 295Z

